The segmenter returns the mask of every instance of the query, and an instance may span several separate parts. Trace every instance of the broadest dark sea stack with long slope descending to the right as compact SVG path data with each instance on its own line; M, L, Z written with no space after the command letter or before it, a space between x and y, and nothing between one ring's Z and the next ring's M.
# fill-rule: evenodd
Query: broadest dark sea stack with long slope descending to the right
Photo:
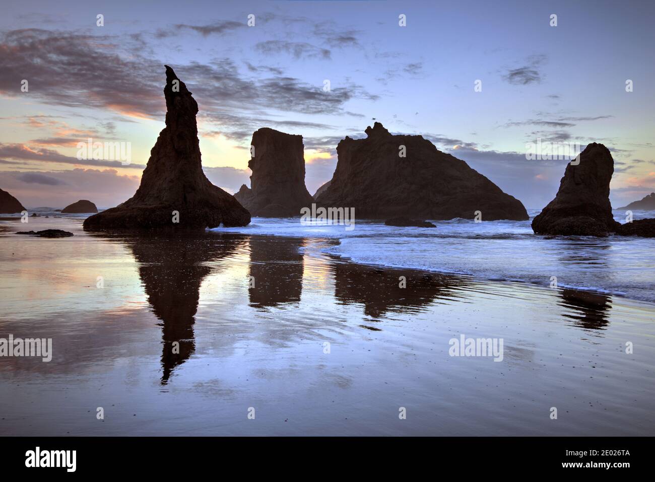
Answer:
M354 208L360 219L473 219L476 211L483 221L529 219L519 200L422 136L394 136L379 122L365 132L337 145L337 168L316 196L319 206Z

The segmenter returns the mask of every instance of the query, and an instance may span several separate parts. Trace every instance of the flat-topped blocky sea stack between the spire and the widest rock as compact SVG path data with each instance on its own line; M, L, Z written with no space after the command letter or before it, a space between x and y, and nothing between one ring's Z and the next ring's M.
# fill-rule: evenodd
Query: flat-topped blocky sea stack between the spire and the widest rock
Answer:
M310 208L314 200L305 187L303 136L263 127L253 133L251 145L251 187L242 185L234 197L253 216L295 217Z

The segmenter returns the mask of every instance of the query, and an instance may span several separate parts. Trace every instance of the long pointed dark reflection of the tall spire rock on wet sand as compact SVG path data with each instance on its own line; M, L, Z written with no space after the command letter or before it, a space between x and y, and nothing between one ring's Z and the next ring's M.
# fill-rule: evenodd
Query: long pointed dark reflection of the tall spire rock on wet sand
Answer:
M208 265L231 255L240 240L219 236L139 236L124 242L136 259L153 314L162 326L161 382L195 349L193 325L200 284L216 268Z

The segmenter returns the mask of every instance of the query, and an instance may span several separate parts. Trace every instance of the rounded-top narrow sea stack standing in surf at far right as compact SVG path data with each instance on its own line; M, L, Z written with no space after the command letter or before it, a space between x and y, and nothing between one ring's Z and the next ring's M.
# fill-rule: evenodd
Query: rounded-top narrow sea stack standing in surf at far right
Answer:
M619 229L610 204L614 159L595 142L580 153L579 164L567 164L555 199L532 222L537 234L607 236Z

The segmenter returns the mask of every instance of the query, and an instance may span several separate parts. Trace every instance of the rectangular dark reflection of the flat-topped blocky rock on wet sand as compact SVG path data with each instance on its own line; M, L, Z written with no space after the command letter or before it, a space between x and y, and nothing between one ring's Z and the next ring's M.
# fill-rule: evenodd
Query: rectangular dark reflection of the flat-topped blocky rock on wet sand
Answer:
M303 240L297 238L250 238L250 306L297 303L303 291ZM252 279L252 278L251 278Z

